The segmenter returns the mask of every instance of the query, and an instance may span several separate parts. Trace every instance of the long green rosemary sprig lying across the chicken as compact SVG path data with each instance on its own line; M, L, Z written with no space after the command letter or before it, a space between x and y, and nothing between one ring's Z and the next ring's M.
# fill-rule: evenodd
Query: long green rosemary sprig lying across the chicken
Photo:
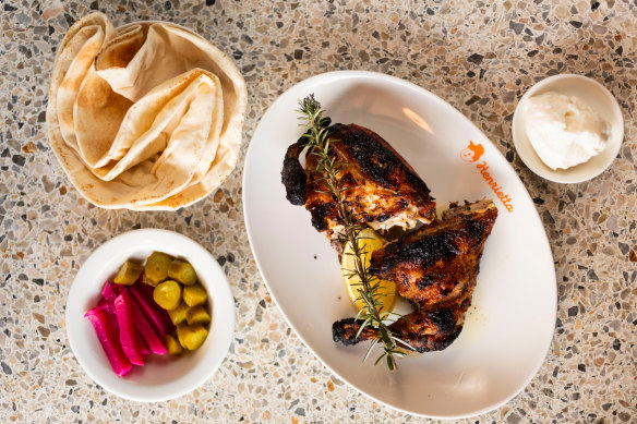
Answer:
M310 147L308 154L316 157L314 171L322 175L321 178L327 187L326 192L332 194L338 207L338 217L342 229L338 232L337 240L344 244L350 243L353 250L354 269L347 271L358 276L360 279L359 299L365 305L357 316L357 320L362 320L357 337L365 329L373 329L377 332L377 339L373 340L363 361L370 356L375 346L381 346L383 352L376 359L374 365L385 359L387 367L394 371L396 368L396 358L404 358L404 349L412 348L389 330L384 322L385 317L381 315L380 311L383 306L382 295L378 293L381 282L377 277L368 274L363 263L365 250L359 245L360 241L364 239L360 235L360 232L365 226L358 222L354 214L348 209L346 205L348 187L344 186L342 181L338 178L340 163L337 162L336 156L329 155L330 143L333 142L328 136L329 119L323 116L321 104L314 98L313 94L300 100L298 112L301 114L299 119L305 121L303 125Z

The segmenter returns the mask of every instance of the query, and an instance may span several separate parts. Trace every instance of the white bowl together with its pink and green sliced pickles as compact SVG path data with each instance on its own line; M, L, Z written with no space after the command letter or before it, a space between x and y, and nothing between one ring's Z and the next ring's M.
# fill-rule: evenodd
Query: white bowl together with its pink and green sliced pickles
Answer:
M67 300L77 362L125 399L185 395L218 368L232 341L235 302L213 255L157 229L130 231L82 265Z

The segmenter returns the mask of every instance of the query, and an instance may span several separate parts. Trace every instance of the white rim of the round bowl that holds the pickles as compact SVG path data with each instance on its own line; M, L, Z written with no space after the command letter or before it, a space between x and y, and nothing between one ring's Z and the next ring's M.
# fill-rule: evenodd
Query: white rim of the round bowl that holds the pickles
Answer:
M228 326L228 328L229 328L229 331L228 331L228 337L226 339L219 339L216 342L216 344L221 346L221 348L218 349L218 352L219 352L218 360L216 362L212 363L212 366L208 367L211 370L208 373L202 373L196 379L193 379L193 384L189 385L190 386L189 388L176 390L169 395L148 397L148 396L137 396L135 393L129 393L125 391L122 392L122 391L118 390L117 388L113 388L110 384L108 384L108 383L105 384L98 377L96 378L96 375L93 373L92 368L86 366L82 354L80 354L80 355L77 354L77 352L79 352L79 344L76 341L77 335L71 331L71 328L73 326L69 325L69 323L72 322L73 319L77 319L76 316L74 316L74 315L72 316L74 307L69 307L69 301L72 300L74 291L79 290L79 284L81 283L81 281L79 280L79 277L81 277L88 269L88 268L86 268L86 265L87 264L93 265L93 263L98 261L100 255L104 255L106 252L108 252L109 249L117 246L119 243L122 242L122 240L133 238L133 237L139 238L140 240L142 240L142 238L144 238L144 237L152 238L154 240L157 240L157 238L170 238L173 240L181 240L181 242L185 243L185 245L190 246L190 249L199 250L202 254L205 254L209 257L209 259L211 259L209 265L212 265L213 268L215 268L215 272L219 274L219 276L223 276L223 286L227 289L227 293L223 293L219 296L219 298L221 298L220 300L223 301L224 298L226 298L226 294L229 295L227 304L230 307L231 313L228 314L227 317L226 316L223 317L223 319L225 320L225 325ZM75 277L73 277L73 281L71 282L71 286L69 287L69 292L67 294L67 301L64 303L64 307L65 307L64 326L67 327L67 338L69 339L69 346L71 347L71 351L73 352L73 356L75 358L75 360L80 364L81 368L88 375L88 377L91 377L91 379L93 381L95 381L95 384L99 385L101 388L104 388L104 390L108 391L109 393L112 393L112 395L120 397L122 399L137 401L137 402L145 402L145 403L161 402L161 401L177 399L177 398L180 398L184 395L188 395L188 393L192 392L193 390L195 390L196 388L201 387L207 379L209 379L212 376L214 376L217 373L218 368L221 366L221 363L224 362L224 360L228 355L228 352L230 350L230 346L232 344L235 329L236 329L235 315L237 313L237 308L235 306L233 294L232 294L232 290L230 288L230 282L228 281L226 272L219 266L219 264L217 263L217 261L213 256L213 254L207 249L202 246L199 242L192 240L188 235L181 234L181 233L176 232L176 231L159 229L159 228L142 228L142 229L135 229L135 230L122 232L122 233L117 234L116 237L105 241L97 249L95 249L93 252L91 252L91 254L86 257L86 259L84 259L84 262L80 266L80 269L75 274ZM143 391L144 389L140 388L139 390Z

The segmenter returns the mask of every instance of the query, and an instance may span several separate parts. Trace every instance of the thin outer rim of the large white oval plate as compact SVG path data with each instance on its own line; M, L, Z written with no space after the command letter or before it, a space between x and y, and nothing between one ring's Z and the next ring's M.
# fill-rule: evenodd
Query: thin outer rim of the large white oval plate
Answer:
M424 414L424 413L420 413L420 412L414 412L414 411L408 411L406 409L393 405L386 401L383 401L381 399L377 399L375 397L373 397L372 395L368 393L366 391L358 388L357 386L354 386L353 384L351 384L347 378L342 377L339 373L337 373L334 368L332 368L324 360L323 358L321 358L321 355L318 355L314 349L312 349L312 347L310 346L310 343L301 336L301 334L299 332L299 330L297 330L297 328L295 327L295 325L291 323L290 318L288 317L288 315L286 314L285 310L281 307L281 305L279 304L276 295L274 294L271 284L267 282L267 279L265 278L265 275L263 272L262 269L262 264L254 251L254 241L253 241L253 237L251 234L250 231L250 219L248 217L248 208L245 207L247 204L249 204L250 202L247 198L247 191L244 190L245 187L245 182L247 182L247 175L250 174L249 168L247 167L247 165L249 163L249 159L252 157L252 155L254 155L252 152L253 149L253 140L255 137L255 135L259 134L259 130L260 128L263 125L263 118L267 114L268 111L271 111L271 109L274 109L278 104L284 101L284 96L286 96L287 93L291 92L295 88L301 87L301 86L311 86L313 83L315 82L321 82L321 81L325 81L325 80L329 80L329 78L334 78L334 80L341 80L341 78L372 78L372 80L381 80L384 82L388 82L389 84L397 84L397 85L401 85L404 87L407 87L409 89L413 89L420 93L420 95L423 96L428 96L433 98L436 102L440 102L442 105L445 105L446 107L453 109L455 112L457 112L459 116L461 116L466 122L471 125L485 141L489 141L489 143L491 143L494 147L494 150L496 152L497 155L500 155L501 159L503 159L505 161L505 163L510 168L510 171L516 175L516 178L519 180L522 189L524 189L524 194L528 197L528 201L531 202L532 205L532 199L531 196L529 195L529 192L525 185L525 183L521 181L521 179L519 178L519 174L515 171L515 169L512 167L512 165L506 161L506 159L504 158L504 155L500 152L500 149L497 148L497 146L489 138L484 135L484 133L469 119L467 118L462 112L460 112L458 109L456 109L453 105L450 105L449 102L447 102L446 100L444 100L443 98L441 98L440 96L437 96L436 94L428 90L426 88L423 88L410 81L407 80L402 80L399 78L397 76L393 76L393 75L388 75L388 74L384 74L384 73L380 73L380 72L372 72L372 71L358 71L358 70L345 70L345 71L329 71L329 72L325 72L325 73L320 73L313 76L310 76L305 80L302 80L293 85L291 85L290 87L288 87L287 89L285 89L280 95L277 96L277 98L267 107L267 109L265 110L265 112L262 114L256 128L254 129L254 132L252 134L252 137L250 140L250 143L248 145L248 150L245 153L245 159L243 161L243 169L242 169L242 178L241 178L241 184L242 184L242 194L241 194L241 201L243 204L243 220L244 220L244 225L245 225L245 232L248 234L248 240L250 243L250 249L252 251L252 256L254 258L254 262L256 264L256 267L259 269L259 272L261 274L261 278L263 280L263 282L265 283L266 288L268 289L269 295L272 296L272 299L274 300L275 304L277 305L278 312L283 315L283 317L285 318L286 323L288 324L288 326L290 328L292 328L292 330L295 331L295 334L297 335L297 337L301 340L301 342L305 346L305 348L314 355L314 358L316 358L332 374L334 374L335 376L337 376L339 379L341 379L342 381L345 381L349 387L351 387L352 389L354 389L356 391L358 391L359 393L362 393L363 396L365 396L368 399L371 399L375 402L378 402L385 407L388 407L395 411L398 412L402 412L406 414L410 414L410 415L414 415L414 416L422 416L422 417L428 417L428 419L434 419L434 420L460 420L460 419L467 419L467 417L472 417L472 416L477 416L477 415L481 415L483 413L490 412L490 411L494 411L498 408L501 408L502 405L506 404L507 402L509 402L512 399L514 399L515 397L517 397L528 385L529 383L538 375L538 372L540 371L540 368L542 367L542 365L545 362L546 356L549 355L550 351L551 351L551 346L553 343L553 338L555 335L555 327L552 327L551 330L551 337L549 338L549 342L544 349L544 354L541 356L541 360L538 360L538 362L534 364L533 366L533 372L529 374L529 376L525 379L524 384L520 385L520 387L515 390L509 397L495 402L493 404L489 404L484 408L482 408L481 410L478 411L473 411L470 413L466 413L466 414L459 414L459 415L432 415L432 414ZM247 202L248 201L248 202ZM542 230L543 230L543 241L545 244L545 247L548 249L548 252L551 254L551 257L553 258L553 250L551 249L551 243L549 242L549 237L546 235L546 230L543 226L542 220L540 219L540 216L538 214L538 209L533 206L533 216L534 218L538 220L538 222L540 223ZM550 284L550 287L553 288L553 292L554 295L552 295L549 301L552 303L550 305L550 311L552 312L552 322L555 323L556 318L557 318L557 279L556 279L556 274L555 274L555 264L552 261L551 262L551 268L553 270L552 275L552 284Z

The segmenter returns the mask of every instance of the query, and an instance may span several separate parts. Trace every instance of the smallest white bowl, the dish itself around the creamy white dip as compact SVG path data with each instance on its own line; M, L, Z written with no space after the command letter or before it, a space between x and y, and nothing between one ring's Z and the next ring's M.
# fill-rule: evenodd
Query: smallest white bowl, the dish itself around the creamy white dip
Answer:
M611 124L606 147L587 162L568 169L552 170L538 156L525 131L524 110L527 100L546 92L577 96ZM602 173L615 159L624 140L624 119L617 100L603 85L582 75L561 74L550 76L533 85L518 102L513 116L513 143L520 159L538 175L562 183L577 183Z

